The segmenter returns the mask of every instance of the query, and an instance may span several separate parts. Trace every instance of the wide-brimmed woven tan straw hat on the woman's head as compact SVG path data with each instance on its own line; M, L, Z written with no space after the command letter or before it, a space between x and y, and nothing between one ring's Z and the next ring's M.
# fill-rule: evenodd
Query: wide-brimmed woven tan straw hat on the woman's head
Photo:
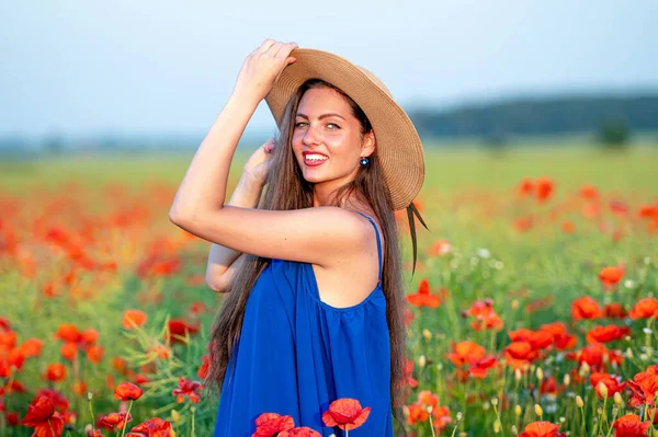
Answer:
M409 207L424 180L422 143L386 85L365 68L328 51L295 48L288 56L297 60L283 69L265 97L276 123L281 125L286 103L307 79L318 78L338 87L356 102L373 126L393 209Z

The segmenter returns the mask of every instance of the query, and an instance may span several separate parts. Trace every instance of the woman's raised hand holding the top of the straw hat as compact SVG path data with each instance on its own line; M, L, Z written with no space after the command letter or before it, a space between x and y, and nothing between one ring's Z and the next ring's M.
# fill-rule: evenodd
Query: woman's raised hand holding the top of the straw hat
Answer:
M245 59L234 94L254 99L260 103L270 93L283 69L297 60L288 56L296 47L296 43L284 44L265 39Z

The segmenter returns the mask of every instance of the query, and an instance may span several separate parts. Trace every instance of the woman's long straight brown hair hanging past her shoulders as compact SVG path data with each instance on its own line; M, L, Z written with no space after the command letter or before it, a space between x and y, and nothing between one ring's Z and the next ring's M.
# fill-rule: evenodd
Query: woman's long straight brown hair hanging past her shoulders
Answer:
M313 184L303 177L291 143L299 101L307 90L316 88L329 88L344 96L352 108L352 114L361 124L362 136L372 129L371 123L363 111L340 89L320 79L310 79L303 83L297 93L287 102L283 112L280 126L281 135L276 139L272 152L271 171L265 181L266 186L260 199L259 209L291 210L313 207ZM268 187L275 188L268 189ZM382 286L386 297L386 319L390 335L390 401L394 416L404 428L401 424L404 423L402 406L405 402L402 379L406 327L402 312L405 298L401 260L398 246L398 228L393 212L390 195L384 180L382 166L377 160L376 149L370 156L370 163L360 165L354 180L337 191L334 196L336 206L342 206L344 200L352 194L372 207L378 218L383 239L386 242L384 245ZM249 294L270 261L270 258L245 254L240 274L235 275L229 285L228 296L211 334L211 366L205 379L207 388L222 390L231 353L240 337Z

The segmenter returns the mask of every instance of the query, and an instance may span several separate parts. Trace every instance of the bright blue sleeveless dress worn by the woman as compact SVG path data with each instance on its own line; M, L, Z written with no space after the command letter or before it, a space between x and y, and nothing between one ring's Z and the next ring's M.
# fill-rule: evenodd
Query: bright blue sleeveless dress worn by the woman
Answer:
M361 214L361 212L359 212ZM240 340L228 365L214 437L251 437L262 413L290 415L322 437L344 436L327 427L322 413L340 398L370 406L351 437L392 437L390 340L379 281L361 303L334 308L322 301L309 263L272 260L256 281Z

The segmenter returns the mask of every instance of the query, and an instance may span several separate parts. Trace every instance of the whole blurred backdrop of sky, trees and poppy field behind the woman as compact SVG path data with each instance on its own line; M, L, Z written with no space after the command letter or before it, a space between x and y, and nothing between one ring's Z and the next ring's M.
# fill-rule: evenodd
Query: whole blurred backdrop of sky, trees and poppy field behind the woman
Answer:
M265 38L373 71L423 141L415 275L396 217L411 435L542 417L611 435L634 410L600 402L588 369L658 363L657 22L655 0L0 2L0 435L32 435L44 390L70 401L53 401L67 436L92 435L93 393L110 435L122 381L146 390L131 426L211 434L217 399L172 394L207 375L225 295L211 244L168 211ZM262 102L228 195L273 134Z

